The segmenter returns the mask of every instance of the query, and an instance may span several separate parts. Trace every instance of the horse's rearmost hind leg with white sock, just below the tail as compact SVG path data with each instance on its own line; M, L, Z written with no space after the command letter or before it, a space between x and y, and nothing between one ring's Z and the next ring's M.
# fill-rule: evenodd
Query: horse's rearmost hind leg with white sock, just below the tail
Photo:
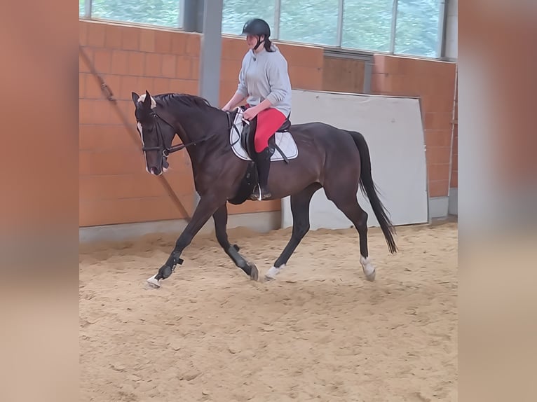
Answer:
M358 231L358 237L360 238L360 265L364 271L365 277L368 281L375 280L375 268L369 261L369 251L367 250L367 212L365 212L360 205L356 197L356 193L346 191L332 191L325 188L327 197L334 202L336 207L353 223Z

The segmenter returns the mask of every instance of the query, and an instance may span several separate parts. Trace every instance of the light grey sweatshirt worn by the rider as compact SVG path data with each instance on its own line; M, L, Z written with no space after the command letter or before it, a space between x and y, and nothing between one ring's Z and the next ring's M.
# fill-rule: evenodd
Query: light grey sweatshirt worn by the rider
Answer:
M287 60L275 44L274 52L264 48L259 53L248 50L238 76L238 92L247 97L250 106L265 99L286 117L291 113L291 82L287 73Z

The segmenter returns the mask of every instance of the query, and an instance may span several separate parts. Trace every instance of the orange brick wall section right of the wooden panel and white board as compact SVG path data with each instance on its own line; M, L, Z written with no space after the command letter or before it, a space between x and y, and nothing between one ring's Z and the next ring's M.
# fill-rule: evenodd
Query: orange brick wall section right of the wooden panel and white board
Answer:
M421 97L430 197L447 195L452 174L449 159L454 88L455 63L374 56L373 93ZM456 164L454 166L456 172ZM456 179L451 186L456 187Z

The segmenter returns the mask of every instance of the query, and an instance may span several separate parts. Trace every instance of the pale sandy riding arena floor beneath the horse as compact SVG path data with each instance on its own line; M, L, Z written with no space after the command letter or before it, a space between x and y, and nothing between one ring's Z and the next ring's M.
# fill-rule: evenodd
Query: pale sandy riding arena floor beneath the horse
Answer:
M290 236L229 231L260 279ZM214 235L150 289L175 236L81 246L81 401L456 401L456 223L306 235L276 281L252 282Z

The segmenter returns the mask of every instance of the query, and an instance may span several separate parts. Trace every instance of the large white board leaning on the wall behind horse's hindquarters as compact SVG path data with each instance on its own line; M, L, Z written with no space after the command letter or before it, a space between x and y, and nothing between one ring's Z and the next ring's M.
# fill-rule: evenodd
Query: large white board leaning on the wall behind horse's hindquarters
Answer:
M373 180L394 225L428 222L425 138L419 99L293 90L293 124L320 121L362 133L371 154ZM367 226L379 226L369 200L358 190ZM351 228L353 223L318 190L311 200L310 226ZM292 226L290 197L282 199L282 227Z

